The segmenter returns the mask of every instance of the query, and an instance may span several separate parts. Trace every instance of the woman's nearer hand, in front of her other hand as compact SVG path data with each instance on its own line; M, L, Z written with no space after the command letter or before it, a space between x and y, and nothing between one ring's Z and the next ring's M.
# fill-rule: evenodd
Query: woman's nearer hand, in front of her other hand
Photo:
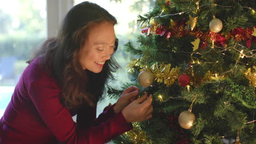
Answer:
M146 93L143 97L126 106L122 111L126 122L141 122L152 118L152 100L152 94L148 97Z

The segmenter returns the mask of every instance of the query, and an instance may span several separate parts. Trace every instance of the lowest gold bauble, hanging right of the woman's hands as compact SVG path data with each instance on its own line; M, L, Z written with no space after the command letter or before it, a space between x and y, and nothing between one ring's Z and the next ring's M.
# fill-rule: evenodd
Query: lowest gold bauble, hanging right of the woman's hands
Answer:
M181 125L184 129L191 129L193 127L195 121L195 115L192 112L189 111L183 111L181 114L179 114L179 125Z

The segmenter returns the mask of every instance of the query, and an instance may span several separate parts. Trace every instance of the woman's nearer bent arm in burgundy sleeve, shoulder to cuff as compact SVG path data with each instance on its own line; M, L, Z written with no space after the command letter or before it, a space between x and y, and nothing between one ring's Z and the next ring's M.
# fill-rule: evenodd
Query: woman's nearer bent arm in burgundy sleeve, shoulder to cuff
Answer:
M106 143L132 129L121 112L96 127L79 129L69 111L60 103L60 89L52 80L39 79L27 88L46 126L62 143Z

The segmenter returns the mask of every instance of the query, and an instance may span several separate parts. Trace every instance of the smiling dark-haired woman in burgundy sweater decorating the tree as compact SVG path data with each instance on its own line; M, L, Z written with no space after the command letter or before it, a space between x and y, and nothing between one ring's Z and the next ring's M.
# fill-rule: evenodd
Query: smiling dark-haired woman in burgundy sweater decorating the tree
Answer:
M115 23L95 3L68 11L57 36L28 61L0 119L0 144L100 144L152 117L152 95L137 99L139 88L131 86L96 118L97 102L118 68Z

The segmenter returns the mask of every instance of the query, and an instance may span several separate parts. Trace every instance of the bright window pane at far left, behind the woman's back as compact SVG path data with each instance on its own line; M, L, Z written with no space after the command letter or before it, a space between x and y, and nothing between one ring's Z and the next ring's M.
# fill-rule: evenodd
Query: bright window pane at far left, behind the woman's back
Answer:
M0 5L0 117L31 51L46 38L46 1L2 1Z

